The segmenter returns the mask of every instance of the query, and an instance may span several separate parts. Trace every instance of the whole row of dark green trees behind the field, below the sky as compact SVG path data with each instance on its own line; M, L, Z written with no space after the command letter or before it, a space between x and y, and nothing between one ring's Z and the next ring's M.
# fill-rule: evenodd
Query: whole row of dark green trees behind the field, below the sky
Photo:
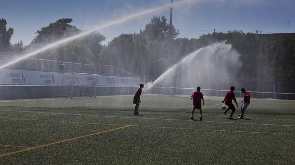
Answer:
M13 45L10 43L14 29L7 29L7 22L2 18L0 54L21 54L83 32L72 26L71 22L72 19L68 18L50 23L37 30L32 42L24 46L22 40ZM64 46L42 52L34 58L92 64L97 72L103 72L103 65L113 65L138 77L146 75L147 80L155 80L189 53L225 40L240 54L242 66L237 75L240 80L295 83L295 35L280 35L273 40L237 30L203 34L198 39L177 38L178 35L179 30L174 26L169 32L169 24L164 16L154 16L139 33L121 34L107 45L101 44L106 37L94 32Z

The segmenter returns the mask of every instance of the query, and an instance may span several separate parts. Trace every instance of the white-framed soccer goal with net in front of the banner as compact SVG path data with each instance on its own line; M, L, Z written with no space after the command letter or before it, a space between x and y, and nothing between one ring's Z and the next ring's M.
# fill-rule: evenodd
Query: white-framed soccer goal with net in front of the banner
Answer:
M87 73L63 73L62 85L57 97L96 97L97 75Z

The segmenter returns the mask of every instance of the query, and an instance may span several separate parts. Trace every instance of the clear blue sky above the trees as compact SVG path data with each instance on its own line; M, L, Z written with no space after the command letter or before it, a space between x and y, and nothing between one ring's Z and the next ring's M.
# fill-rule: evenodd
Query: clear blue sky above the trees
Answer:
M0 19L14 29L11 43L24 45L37 35L35 32L61 18L71 18L71 25L91 30L113 20L137 12L170 4L171 0L0 0ZM182 0L173 0L173 3ZM192 1L192 0L191 0ZM199 38L202 34L242 30L269 33L295 32L294 0L195 0L173 7L172 23L180 30L178 37ZM122 33L139 33L153 16L167 18L170 9L153 12L117 24L99 32L107 44Z

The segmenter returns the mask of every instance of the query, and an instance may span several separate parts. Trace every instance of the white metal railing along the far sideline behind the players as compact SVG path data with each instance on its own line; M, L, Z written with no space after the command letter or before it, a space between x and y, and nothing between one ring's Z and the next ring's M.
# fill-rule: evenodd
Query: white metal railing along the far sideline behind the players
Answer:
M146 89L148 86L146 87ZM145 93L153 94L166 94L166 95L191 95L195 88L175 88L175 87L149 87ZM201 89L204 96L225 96L229 90L216 90L216 89ZM295 93L274 93L274 92L258 92L258 91L248 91L251 98L273 98L273 99L295 99ZM243 97L244 94L240 90L235 90L236 97Z

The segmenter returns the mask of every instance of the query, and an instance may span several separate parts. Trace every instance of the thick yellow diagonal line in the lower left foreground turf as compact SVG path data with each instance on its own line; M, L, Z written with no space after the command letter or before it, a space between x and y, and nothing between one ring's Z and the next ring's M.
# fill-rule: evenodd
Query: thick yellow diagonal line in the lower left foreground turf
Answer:
M51 145L54 145L54 144L63 143L63 142L66 142L66 141L72 141L72 140L76 140L76 139L79 139L79 138L84 138L84 137L87 137L87 136L93 136L93 135L97 135L97 134L100 134L100 133L106 133L106 132L110 132L110 131L114 131L114 130L118 130L118 129L122 129L122 128L127 128L127 127L130 127L130 126L123 126L123 127L119 127L119 128L113 128L113 129L109 129L109 130L106 130L106 131L101 131L101 132L91 133L91 134L88 134L88 135L79 136L79 137L76 137L76 138L70 138L70 139L66 139L66 140L62 140L62 141L57 141L57 142L53 142L53 143L44 144L44 145L41 145L41 146L35 146L35 147L30 147L30 148L19 150L19 151L9 152L9 153L6 153L6 154L1 154L0 157L7 156L7 155L12 155L12 154L17 154L17 153L24 152L24 151L29 151L29 150L32 150L32 149L38 149L38 148L41 148L41 147L51 146Z

